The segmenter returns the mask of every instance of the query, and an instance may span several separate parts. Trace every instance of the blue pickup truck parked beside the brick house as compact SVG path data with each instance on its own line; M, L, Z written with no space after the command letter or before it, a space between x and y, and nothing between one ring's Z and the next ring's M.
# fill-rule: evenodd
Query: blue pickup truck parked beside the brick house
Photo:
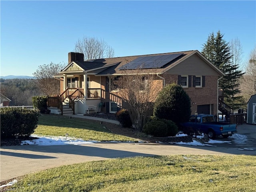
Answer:
M237 132L236 124L216 122L213 115L207 114L192 115L189 121L182 123L181 126L187 130L208 134L208 137L211 139L218 135L228 138L228 136L232 136L232 134Z

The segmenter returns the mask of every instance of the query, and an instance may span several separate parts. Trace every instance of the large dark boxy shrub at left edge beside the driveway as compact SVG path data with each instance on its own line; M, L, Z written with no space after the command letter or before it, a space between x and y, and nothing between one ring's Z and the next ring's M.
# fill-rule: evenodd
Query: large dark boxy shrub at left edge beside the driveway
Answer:
M1 138L30 136L37 127L38 112L22 108L1 108Z

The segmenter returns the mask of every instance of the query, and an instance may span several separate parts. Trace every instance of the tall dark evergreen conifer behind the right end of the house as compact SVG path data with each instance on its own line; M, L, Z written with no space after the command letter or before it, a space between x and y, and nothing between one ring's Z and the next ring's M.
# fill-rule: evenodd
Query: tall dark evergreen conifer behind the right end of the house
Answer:
M238 68L238 64L232 62L233 55L231 54L230 46L223 39L223 34L220 31L216 36L211 33L205 44L203 44L202 54L226 74L220 82L219 87L224 90L224 100L233 108L236 108L236 94L240 93L239 78L243 73Z

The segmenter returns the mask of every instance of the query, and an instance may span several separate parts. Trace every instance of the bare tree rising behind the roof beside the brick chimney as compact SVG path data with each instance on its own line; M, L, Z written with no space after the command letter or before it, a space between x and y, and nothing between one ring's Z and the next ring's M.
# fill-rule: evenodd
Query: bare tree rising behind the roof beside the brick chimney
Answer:
M114 49L104 40L95 37L84 36L78 39L74 51L83 53L86 60L114 57Z

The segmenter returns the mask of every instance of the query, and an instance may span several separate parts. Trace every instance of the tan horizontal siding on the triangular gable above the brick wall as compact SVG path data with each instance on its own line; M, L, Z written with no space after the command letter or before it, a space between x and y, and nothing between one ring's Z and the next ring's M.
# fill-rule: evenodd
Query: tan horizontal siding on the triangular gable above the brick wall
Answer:
M220 76L214 68L204 62L198 55L194 54L178 65L168 70L165 74L173 75L200 75Z

